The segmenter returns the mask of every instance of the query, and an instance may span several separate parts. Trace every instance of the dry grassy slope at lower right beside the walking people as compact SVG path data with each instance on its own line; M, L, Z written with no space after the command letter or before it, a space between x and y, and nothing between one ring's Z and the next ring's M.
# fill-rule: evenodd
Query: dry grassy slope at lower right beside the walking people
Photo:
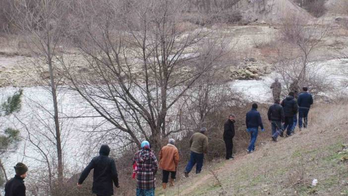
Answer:
M346 104L317 105L310 111L309 129L297 130L278 143L269 141L233 161L206 164L200 175L183 179L179 174L174 188L166 192L159 188L156 195L348 195L348 163L338 154L348 143L347 111ZM209 170L217 173L216 178ZM310 186L313 179L318 179L316 187Z

